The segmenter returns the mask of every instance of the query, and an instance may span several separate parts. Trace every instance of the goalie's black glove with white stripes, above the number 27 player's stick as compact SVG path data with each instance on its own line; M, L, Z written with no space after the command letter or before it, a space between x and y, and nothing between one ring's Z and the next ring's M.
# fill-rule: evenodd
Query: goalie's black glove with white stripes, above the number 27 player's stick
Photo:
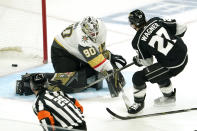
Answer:
M111 54L111 63L115 65L116 63L119 63L123 67L127 65L127 61L121 55L114 55L114 54Z

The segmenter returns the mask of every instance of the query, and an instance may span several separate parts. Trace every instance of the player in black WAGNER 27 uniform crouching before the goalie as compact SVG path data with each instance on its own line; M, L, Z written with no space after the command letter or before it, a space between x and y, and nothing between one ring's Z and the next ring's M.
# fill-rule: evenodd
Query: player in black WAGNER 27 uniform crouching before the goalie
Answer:
M175 99L176 90L170 78L182 72L187 64L187 46L181 38L187 27L176 20L159 17L146 21L145 14L138 9L130 12L128 19L130 26L137 31L132 40L132 47L137 51L133 62L145 66L132 78L134 104L128 113L135 114L144 108L146 82L157 83L165 98Z

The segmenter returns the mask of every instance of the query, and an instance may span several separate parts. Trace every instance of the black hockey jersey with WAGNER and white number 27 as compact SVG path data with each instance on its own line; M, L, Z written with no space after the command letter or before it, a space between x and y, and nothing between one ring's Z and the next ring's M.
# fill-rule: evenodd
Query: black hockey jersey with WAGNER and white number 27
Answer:
M187 56L187 47L181 39L186 27L179 27L175 20L164 21L154 17L137 31L132 46L140 59L154 56L162 66L176 68Z

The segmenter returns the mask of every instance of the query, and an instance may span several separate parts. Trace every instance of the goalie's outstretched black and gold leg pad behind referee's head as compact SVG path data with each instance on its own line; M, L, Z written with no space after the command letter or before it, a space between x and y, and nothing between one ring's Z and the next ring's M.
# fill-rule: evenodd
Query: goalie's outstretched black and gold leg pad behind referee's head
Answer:
M32 95L33 92L30 89L30 76L35 73L26 73L21 76L21 80L16 81L16 94L19 95ZM84 88L89 83L99 79L100 73L97 73L91 77L86 77L84 70L79 72L67 72L67 73L44 73L50 80L48 90L59 91L62 90L65 93L76 93L85 90ZM103 87L103 81L93 85L91 88L99 90Z

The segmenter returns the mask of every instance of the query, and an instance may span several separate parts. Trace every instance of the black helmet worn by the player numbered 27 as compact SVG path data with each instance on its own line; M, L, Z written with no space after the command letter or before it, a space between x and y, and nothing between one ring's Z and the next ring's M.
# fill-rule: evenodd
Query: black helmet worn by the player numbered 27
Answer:
M134 10L129 13L129 22L130 25L135 25L137 28L140 28L146 23L146 18L144 13L141 10Z

